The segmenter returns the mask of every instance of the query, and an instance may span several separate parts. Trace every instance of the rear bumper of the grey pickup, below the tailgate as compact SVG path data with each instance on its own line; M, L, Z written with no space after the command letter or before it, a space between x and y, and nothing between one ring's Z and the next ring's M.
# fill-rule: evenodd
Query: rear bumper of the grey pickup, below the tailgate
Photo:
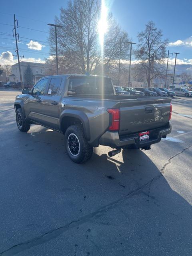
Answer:
M148 145L160 142L163 136L171 132L171 123L168 122L166 127L150 130L151 137L148 141L140 141L138 133L119 137L118 132L105 132L99 139L99 144L110 146L112 148L122 148L124 146L133 145L134 148L144 148Z

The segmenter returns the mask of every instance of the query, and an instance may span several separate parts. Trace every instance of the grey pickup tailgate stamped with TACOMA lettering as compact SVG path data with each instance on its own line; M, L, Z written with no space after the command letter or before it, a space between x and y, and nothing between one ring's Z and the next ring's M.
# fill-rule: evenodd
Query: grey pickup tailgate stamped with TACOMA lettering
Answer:
M144 132L169 121L171 98L137 98L120 101L119 135Z

